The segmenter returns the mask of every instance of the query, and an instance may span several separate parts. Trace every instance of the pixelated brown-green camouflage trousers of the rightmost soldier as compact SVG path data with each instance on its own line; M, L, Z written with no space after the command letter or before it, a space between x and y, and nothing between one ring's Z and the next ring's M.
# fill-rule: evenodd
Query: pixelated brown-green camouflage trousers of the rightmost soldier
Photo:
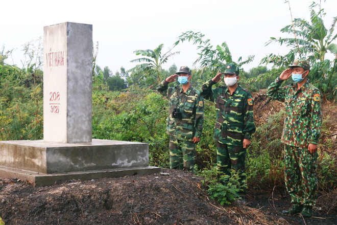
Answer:
M292 204L315 206L317 200L317 158L307 148L285 145L285 187L292 197Z

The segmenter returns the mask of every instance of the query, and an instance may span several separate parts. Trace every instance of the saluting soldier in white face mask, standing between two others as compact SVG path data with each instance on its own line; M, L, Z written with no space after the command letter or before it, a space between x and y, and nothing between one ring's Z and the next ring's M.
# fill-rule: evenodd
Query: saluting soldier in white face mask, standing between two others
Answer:
M221 80L222 74L227 86L212 89L212 85ZM247 89L237 83L238 75L239 68L229 63L224 73L219 73L202 85L201 95L215 102L214 140L217 147L218 169L229 176L231 169L238 171L239 183L242 187L246 187L246 149L251 144L250 139L255 132L255 125L252 96ZM246 196L245 188L238 194Z

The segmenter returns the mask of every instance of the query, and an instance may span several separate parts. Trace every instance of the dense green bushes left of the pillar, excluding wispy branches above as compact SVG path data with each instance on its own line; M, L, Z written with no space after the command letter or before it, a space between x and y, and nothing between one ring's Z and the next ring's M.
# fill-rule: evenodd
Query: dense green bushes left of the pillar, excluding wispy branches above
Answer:
M42 84L27 82L32 74L16 66L0 65L0 138L42 139Z

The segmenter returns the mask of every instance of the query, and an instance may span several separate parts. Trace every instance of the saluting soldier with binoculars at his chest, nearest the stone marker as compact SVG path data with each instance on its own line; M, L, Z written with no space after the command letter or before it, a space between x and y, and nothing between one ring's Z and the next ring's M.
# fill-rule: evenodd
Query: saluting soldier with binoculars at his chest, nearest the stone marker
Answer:
M177 76L182 86L168 87ZM176 74L163 80L157 90L169 101L166 132L170 135L170 168L194 173L196 144L204 123L204 99L190 85L190 79L190 69L181 66Z

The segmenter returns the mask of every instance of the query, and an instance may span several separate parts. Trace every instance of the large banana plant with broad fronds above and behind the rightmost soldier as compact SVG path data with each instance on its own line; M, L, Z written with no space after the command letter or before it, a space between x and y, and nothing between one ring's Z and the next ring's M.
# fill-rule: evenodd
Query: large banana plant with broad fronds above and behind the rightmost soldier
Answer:
M318 8L318 10L316 10ZM260 64L272 63L274 66L285 68L295 58L305 58L311 64L309 80L323 93L337 97L337 32L335 27L337 16L333 17L330 29L324 25L324 9L320 4L312 3L309 7L310 21L295 18L291 25L281 29L282 33L293 35L287 38L271 37L266 46L272 42L284 44L290 51L286 55L270 54L261 60ZM326 59L326 53L334 58Z

